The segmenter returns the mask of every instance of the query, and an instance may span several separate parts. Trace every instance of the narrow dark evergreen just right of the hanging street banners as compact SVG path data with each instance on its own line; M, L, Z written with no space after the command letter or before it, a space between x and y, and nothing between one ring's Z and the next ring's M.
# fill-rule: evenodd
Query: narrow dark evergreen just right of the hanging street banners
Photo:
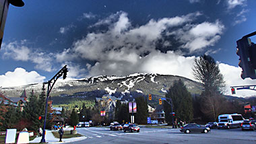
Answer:
M142 96L135 98L137 104L137 113L135 114L135 122L146 124L148 117L148 102Z

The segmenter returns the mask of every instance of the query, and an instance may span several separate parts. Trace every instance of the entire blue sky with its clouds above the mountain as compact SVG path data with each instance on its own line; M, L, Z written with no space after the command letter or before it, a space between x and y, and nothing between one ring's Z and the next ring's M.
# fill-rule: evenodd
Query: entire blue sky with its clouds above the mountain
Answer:
M193 61L203 54L218 61L225 94L230 85L255 84L241 79L236 56L236 40L256 30L254 0L24 3L9 7L0 50L2 87L47 81L63 65L69 79L131 73L194 79Z

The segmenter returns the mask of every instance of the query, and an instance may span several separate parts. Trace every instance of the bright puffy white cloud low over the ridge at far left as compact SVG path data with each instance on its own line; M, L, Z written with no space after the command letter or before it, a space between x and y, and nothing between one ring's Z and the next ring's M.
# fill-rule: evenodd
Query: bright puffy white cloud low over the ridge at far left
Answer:
M18 67L14 71L8 71L5 75L0 75L0 87L42 83L44 79L45 77L39 75L36 71L28 72L25 69Z

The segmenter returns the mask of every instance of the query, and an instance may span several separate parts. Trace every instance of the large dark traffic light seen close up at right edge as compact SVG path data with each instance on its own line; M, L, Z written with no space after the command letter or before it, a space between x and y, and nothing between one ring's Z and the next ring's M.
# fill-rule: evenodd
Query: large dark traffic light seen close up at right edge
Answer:
M256 35L256 32L243 36L243 38L236 41L236 55L240 57L238 66L243 69L241 73L242 79L247 77L256 79L256 45L249 38L254 35Z

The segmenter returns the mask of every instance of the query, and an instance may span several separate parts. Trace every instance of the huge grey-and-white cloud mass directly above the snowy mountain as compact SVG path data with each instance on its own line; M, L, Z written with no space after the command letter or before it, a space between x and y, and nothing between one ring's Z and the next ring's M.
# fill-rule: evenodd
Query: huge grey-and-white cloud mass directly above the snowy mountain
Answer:
M57 55L57 61L94 61L94 64L85 64L89 76L129 75L141 72L180 75L192 79L187 72L191 71L189 65L192 65L193 57L183 57L183 51L179 48L186 47L194 51L213 46L224 29L218 20L214 23L193 24L200 15L202 13L195 12L159 20L152 19L144 25L133 27L127 13L119 11L99 20L93 26L103 25L108 30L91 32L75 41L71 48ZM187 37L183 37L181 33ZM165 38L168 36L180 40L181 46L175 46L173 50L173 40ZM166 48L165 52L158 49L160 41ZM198 41L199 44L196 44ZM188 69L181 69L181 64Z

